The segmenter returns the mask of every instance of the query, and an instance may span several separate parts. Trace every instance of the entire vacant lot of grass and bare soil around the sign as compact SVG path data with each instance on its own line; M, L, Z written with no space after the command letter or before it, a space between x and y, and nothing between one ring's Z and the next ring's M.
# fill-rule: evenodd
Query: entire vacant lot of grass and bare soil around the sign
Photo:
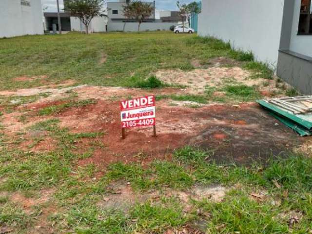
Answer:
M312 233L311 138L258 107L292 96L195 35L0 40L0 234ZM119 100L156 95L120 139Z

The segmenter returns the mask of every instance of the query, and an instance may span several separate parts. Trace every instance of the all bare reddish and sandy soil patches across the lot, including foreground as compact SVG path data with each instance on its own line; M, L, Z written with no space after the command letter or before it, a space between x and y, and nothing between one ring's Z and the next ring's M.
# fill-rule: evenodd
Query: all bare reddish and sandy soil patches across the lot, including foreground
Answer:
M103 55L101 62L105 62ZM103 176L108 165L114 162L138 162L147 166L155 159L171 160L175 149L185 145L198 146L210 152L207 160L220 163L250 165L254 161L266 162L272 155L281 155L288 151L311 152L311 137L302 138L289 128L279 123L266 111L254 102L244 103L217 103L196 104L192 101L174 101L161 99L156 102L156 130L157 137L152 137L152 128L134 128L126 131L127 137L121 139L119 119L119 101L125 98L145 95L201 95L205 86L222 87L227 83L257 86L263 98L280 95L282 92L275 85L275 80L252 79L251 73L234 64L232 67L220 67L224 59L215 59L214 64L208 68L198 67L189 72L180 70L162 70L156 76L168 83L186 85L186 88L161 88L153 90L130 89L121 87L99 87L91 85L74 86L75 82L68 80L60 84L47 84L44 86L1 91L1 98L30 97L42 94L38 100L14 106L10 111L0 106L0 129L8 137L10 147L17 149L43 152L54 151L58 148L58 139L51 137L47 131L32 130L30 127L36 123L52 118L59 119L58 126L68 129L71 134L103 133L94 138L82 138L74 142L75 151L87 153L95 143L96 147L91 156L80 158L78 166L84 167L94 164L99 170L94 179ZM194 61L196 63L196 61ZM200 66L199 64L195 64ZM232 64L233 65L233 64ZM236 66L237 65L237 66ZM46 77L40 77L45 79ZM16 81L27 82L33 78L16 78ZM74 95L74 96L73 96ZM214 95L220 95L215 92ZM222 94L221 94L222 95ZM51 115L39 115L43 108L63 105L69 98L77 100L95 99L82 107L70 106ZM14 102L11 100L11 102ZM196 104L198 108L188 105ZM23 133L23 134L21 134ZM150 200L157 203L161 196L174 196L185 204L184 212L190 213L194 209L192 202L208 198L212 202L222 202L224 196L231 188L221 185L203 186L194 185L187 190L174 190L163 188L145 193L134 191L127 181L115 181L107 188L108 193L103 195L97 206L104 210L121 209L125 212L138 203ZM53 189L40 191L38 198L28 198L19 192L7 193L10 200L22 207L28 215L40 212L40 218L30 230L31 233L53 233L54 224L47 221L50 215L60 212L50 202L54 194ZM256 201L266 199L266 192L255 192L251 198ZM274 201L275 202L275 201ZM36 210L36 205L43 207ZM197 215L201 211L197 211ZM204 214L207 215L207 214ZM300 214L282 214L285 217L300 219ZM99 217L101 218L101 217ZM183 226L179 229L168 229L165 234L202 233L197 228ZM222 227L221 227L222 228ZM0 233L11 232L4 226Z

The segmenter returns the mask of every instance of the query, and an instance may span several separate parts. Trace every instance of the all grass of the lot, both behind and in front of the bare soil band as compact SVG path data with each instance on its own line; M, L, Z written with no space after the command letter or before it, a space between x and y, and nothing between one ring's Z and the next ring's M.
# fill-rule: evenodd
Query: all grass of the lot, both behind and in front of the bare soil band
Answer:
M190 71L192 60L208 66L215 57L242 62L254 78L272 78L272 71L254 62L252 54L233 51L216 39L167 32L72 33L0 39L0 85L2 90L37 87L45 84L39 77L47 76L51 83L71 79L77 84L162 87L167 84L153 78L157 70ZM38 78L14 81L23 76ZM260 97L256 88L244 84L226 84L217 91L225 92L225 101ZM214 92L207 86L201 96L166 94L157 100L205 104ZM20 97L19 103L16 97L0 97L5 112L0 112L0 234L312 233L310 157L289 152L288 157L272 155L252 166L216 164L209 159L213 149L186 145L168 160L148 165L141 163L147 155L140 152L129 156L137 158L136 163L82 166L79 161L96 149L106 150L99 140L106 133L73 133L61 126L59 113L98 101L69 95L65 103L39 109L30 117L44 120L28 120L30 125L14 136L6 132L1 116L19 113L23 123L30 110L16 108L49 94ZM21 148L26 136L33 142ZM55 142L53 150L30 150L45 140ZM85 140L91 142L89 148L78 152Z

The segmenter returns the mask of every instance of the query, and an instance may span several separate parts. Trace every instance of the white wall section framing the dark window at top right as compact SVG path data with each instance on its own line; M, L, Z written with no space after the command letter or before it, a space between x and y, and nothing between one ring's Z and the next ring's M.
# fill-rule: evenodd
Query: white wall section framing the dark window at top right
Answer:
M297 35L300 6L301 0L295 0L292 22L292 37L289 49L293 52L312 57L312 35Z

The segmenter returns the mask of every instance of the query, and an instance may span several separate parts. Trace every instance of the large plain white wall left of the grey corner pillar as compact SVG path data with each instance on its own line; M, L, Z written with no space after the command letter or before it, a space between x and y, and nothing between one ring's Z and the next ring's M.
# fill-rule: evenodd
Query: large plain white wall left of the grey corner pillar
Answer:
M198 34L230 41L276 67L284 0L203 0Z

